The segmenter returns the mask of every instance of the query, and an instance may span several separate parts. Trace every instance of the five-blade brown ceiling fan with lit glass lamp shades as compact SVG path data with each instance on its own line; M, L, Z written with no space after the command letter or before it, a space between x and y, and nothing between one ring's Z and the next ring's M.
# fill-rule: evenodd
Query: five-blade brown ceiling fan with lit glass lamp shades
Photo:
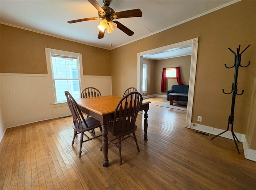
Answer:
M82 18L78 20L70 20L68 23L75 23L75 22L82 22L82 21L88 21L88 20L98 20L101 19L100 25L98 28L100 29L100 32L98 34L98 39L101 39L104 37L105 31L107 29L108 33L114 32L115 28L119 28L122 30L125 34L128 36L132 36L134 32L121 24L120 22L114 20L118 18L129 18L129 17L141 17L142 12L140 9L132 9L132 10L125 10L120 12L115 12L112 8L110 8L110 2L112 0L103 0L104 6L101 7L100 4L96 0L88 0L97 10L99 17L92 17L92 18ZM114 20L114 21L113 21Z

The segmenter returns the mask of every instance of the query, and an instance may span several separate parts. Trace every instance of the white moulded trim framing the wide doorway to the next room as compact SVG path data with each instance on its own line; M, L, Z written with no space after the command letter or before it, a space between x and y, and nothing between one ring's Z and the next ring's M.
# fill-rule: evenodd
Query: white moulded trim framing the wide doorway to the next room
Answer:
M186 126L191 128L192 121L192 108L194 101L194 88L196 79L196 63L197 63L197 51L198 51L198 38L193 38L183 42L178 42L176 44L170 44L168 46L163 46L160 48L150 49L148 51L143 51L137 53L137 89L142 93L142 65L143 65L143 55L160 53L168 49L180 48L180 47L190 47L192 46L191 64L190 64L190 80L189 80L189 91L188 91L188 109L186 115Z

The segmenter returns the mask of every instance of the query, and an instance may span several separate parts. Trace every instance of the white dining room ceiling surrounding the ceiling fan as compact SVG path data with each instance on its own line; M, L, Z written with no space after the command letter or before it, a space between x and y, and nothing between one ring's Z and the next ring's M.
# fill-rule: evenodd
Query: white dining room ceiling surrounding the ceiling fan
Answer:
M102 0L97 2L103 6ZM142 17L121 18L118 22L134 32L128 36L118 28L98 39L100 20L68 24L68 20L98 17L87 0L1 0L0 22L26 30L80 42L104 49L114 49L187 22L237 0L113 0L115 12L139 8Z

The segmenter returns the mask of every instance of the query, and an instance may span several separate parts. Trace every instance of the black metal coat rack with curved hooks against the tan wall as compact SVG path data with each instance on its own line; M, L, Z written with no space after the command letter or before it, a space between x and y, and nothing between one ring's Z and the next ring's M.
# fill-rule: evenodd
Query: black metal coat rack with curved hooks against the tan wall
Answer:
M231 90L231 92L230 92L230 93L226 93L226 92L224 92L224 89L222 89L222 92L223 92L224 94L231 94L231 93L233 93L233 95L232 95L231 112L230 112L230 115L228 116L228 128L227 128L226 131L223 131L222 133L220 133L220 134L218 134L218 135L212 137L212 139L214 139L215 137L218 137L219 135L222 135L223 133L227 132L228 129L229 129L229 126L231 125L231 133L232 133L234 142L235 142L235 144L236 144L236 149L237 149L238 154L240 154L240 151L239 151L239 149L238 149L238 146L237 146L236 141L237 141L237 142L239 142L239 141L238 141L238 139L237 139L237 137L236 137L236 135L235 135L235 133L234 133L234 131L233 131L233 124L234 124L234 108L235 108L236 95L242 95L242 94L244 93L244 90L242 90L242 92L241 92L240 94L237 93L238 69L239 69L239 67L248 67L248 66L250 65L250 62L251 62L251 61L249 61L248 64L245 65L245 66L242 66L242 65L241 65L241 56L242 56L242 53L243 53L247 48L249 48L250 45L248 45L241 53L239 53L239 52L240 52L240 46L241 46L241 45L239 45L238 48L236 48L236 53L235 53L232 49L228 48L232 53L235 54L235 61L234 61L235 63L234 63L234 65L233 65L232 67L228 67L228 66L225 64L225 67L228 68L228 69L231 69L231 68L235 67L234 82L232 83L232 90Z

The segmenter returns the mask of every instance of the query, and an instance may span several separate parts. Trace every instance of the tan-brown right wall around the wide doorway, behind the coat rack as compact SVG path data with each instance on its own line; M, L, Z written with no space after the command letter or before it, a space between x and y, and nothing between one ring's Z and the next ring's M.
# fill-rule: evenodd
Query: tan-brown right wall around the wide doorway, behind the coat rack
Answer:
M238 93L235 105L234 131L245 134L252 99L252 85L256 76L256 1L240 1L200 18L191 20L169 30L149 36L111 51L111 75L113 95L122 95L125 81L129 85L137 82L137 53L149 49L199 38L196 83L192 122L197 116L203 117L200 124L226 129L230 115L232 95L224 95L231 90L234 69L226 69L224 64L234 64L234 54L241 44L244 49L242 64L252 61L249 67L239 70ZM127 74L124 75L123 72ZM120 80L122 78L122 80ZM256 137L254 137L256 138ZM250 144L250 146L255 146Z

